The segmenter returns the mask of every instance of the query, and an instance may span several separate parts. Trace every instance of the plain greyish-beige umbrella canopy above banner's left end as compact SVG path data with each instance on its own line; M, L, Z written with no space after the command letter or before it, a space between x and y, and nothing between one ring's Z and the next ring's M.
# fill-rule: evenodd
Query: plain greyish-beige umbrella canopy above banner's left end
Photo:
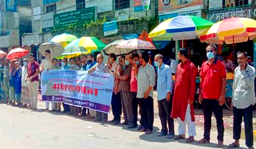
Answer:
M64 52L64 48L59 43L42 43L39 46L38 51L42 55L44 55L44 52L46 50L50 50L51 51L51 56L52 57L59 57Z

